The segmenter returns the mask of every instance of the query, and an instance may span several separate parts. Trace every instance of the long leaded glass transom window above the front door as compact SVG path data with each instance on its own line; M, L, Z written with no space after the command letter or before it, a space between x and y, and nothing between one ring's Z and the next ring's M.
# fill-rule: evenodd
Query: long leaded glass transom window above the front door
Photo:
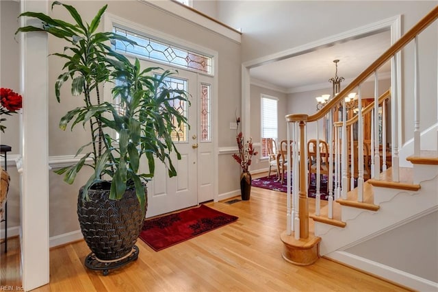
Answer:
M150 38L149 36L130 32L129 30L120 27L114 27L114 32L137 42L137 45L131 45L123 40L116 40L112 44L116 51L166 62L168 64L181 66L201 73L212 74L211 64L213 58L211 56L205 56L201 53L196 53L195 51L183 49L162 42L161 40Z

